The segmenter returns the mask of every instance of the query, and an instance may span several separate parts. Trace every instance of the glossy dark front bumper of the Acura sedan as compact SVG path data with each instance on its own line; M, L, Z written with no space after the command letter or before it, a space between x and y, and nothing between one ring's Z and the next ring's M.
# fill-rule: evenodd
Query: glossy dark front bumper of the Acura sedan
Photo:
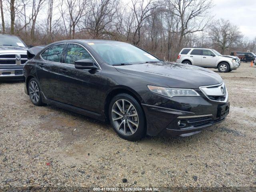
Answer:
M147 134L150 136L190 136L204 128L222 122L229 113L228 98L224 102L212 101L202 92L201 96L162 98L142 104L146 116ZM159 96L160 97L160 96ZM149 97L150 98L150 97ZM151 96L152 98L152 96ZM222 114L222 112L225 112Z

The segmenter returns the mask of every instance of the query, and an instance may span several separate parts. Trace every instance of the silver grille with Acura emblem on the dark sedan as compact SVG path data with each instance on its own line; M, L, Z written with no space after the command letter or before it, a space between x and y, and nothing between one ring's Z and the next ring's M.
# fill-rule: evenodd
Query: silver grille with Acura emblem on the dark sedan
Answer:
M226 102L228 100L228 90L224 82L218 85L202 86L200 90L212 101Z

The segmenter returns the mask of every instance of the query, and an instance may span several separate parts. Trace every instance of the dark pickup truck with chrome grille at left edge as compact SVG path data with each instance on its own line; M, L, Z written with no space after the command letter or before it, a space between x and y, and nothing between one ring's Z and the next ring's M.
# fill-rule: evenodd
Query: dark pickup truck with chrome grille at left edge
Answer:
M22 80L27 60L27 47L20 38L0 34L0 80Z

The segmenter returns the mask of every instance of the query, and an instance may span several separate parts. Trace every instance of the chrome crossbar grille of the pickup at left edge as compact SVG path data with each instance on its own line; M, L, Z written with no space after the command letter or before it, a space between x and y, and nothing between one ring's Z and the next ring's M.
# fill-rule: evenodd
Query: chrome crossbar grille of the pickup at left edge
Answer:
M26 54L1 54L0 65L20 65L27 61Z

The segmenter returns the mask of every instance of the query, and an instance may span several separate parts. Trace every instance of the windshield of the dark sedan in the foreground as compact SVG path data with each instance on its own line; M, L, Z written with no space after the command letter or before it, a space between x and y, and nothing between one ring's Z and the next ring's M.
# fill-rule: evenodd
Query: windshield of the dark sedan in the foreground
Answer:
M159 62L153 55L140 48L122 42L88 43L110 65Z

